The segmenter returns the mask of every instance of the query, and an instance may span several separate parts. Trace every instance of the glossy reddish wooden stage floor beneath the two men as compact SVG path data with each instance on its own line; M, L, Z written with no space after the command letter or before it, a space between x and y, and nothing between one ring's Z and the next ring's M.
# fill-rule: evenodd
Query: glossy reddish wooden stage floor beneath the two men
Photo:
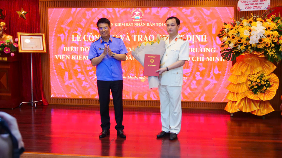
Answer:
M48 105L0 109L15 116L27 152L97 157L282 157L281 111L265 119L224 110L182 109L177 140L157 139L160 109L124 108L126 139L115 131L110 108L110 137L99 139L96 106Z

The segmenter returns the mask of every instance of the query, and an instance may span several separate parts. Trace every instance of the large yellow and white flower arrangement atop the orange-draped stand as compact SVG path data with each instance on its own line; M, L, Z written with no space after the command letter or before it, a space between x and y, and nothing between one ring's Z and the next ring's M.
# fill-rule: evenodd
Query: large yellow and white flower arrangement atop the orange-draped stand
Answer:
M271 62L282 59L282 21L272 15L270 18L251 18L224 23L217 35L223 48L221 56L224 60L235 60L241 54L259 52Z

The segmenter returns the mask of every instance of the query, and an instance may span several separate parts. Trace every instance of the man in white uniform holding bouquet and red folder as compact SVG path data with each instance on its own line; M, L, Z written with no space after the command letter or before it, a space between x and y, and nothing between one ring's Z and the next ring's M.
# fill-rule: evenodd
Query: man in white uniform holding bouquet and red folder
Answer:
M181 127L181 90L183 83L183 65L189 60L189 42L180 37L180 21L172 16L167 18L169 36L162 37L166 51L161 59L159 72L159 95L161 102L162 138L170 133L169 139L177 139Z

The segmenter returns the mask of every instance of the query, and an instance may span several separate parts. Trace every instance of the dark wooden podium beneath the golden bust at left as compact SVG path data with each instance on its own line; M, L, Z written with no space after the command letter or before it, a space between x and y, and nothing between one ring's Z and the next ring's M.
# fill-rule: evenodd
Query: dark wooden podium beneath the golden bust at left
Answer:
M22 101L21 54L0 54L0 108L14 109Z

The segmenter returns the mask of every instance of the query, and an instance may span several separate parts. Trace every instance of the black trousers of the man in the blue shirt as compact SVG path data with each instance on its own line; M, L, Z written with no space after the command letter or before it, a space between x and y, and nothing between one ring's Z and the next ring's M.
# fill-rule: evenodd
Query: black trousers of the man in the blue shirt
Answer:
M101 127L102 130L110 129L110 114L109 114L109 103L110 103L110 91L113 95L113 103L115 109L115 121L117 125L116 130L123 130L122 125L123 109L122 109L122 80L117 81L100 81L97 80L98 95L100 102L100 116L101 116Z

